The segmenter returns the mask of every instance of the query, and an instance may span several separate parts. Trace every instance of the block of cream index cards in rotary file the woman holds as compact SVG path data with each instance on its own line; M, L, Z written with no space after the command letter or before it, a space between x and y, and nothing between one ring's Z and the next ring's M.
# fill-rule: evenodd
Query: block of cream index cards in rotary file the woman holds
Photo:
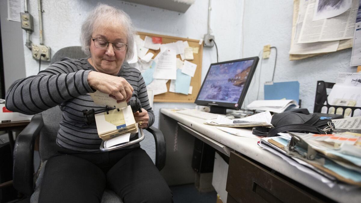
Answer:
M130 106L119 109L113 109L104 113L95 115L96 128L99 137L107 140L124 133L135 133L137 125L134 120L133 112Z

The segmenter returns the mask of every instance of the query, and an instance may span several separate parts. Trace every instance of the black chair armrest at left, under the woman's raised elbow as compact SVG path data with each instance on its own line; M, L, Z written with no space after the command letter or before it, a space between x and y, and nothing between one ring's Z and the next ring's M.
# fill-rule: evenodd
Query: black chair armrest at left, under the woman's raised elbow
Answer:
M43 127L43 117L37 114L18 135L14 147L14 188L30 196L34 192L34 144Z

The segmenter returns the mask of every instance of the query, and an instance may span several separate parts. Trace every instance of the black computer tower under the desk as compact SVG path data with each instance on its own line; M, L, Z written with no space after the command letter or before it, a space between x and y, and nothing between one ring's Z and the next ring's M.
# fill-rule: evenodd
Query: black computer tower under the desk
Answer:
M215 149L200 139L195 138L192 168L197 173L213 172Z

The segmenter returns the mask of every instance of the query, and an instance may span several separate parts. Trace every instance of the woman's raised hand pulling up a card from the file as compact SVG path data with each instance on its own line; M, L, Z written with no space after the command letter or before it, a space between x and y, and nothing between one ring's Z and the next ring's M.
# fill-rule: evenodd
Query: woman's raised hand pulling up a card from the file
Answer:
M123 101L129 102L134 91L126 79L96 71L89 72L88 84L93 89L109 94L109 96L116 99L118 103Z

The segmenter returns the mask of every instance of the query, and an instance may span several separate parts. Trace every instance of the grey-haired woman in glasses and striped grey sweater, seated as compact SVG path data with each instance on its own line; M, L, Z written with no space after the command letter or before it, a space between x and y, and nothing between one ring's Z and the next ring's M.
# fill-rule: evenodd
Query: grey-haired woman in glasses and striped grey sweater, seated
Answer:
M105 187L127 202L172 202L171 191L139 144L100 152L96 125L86 125L83 109L104 108L89 94L96 90L129 101L138 94L140 128L154 122L140 72L123 62L133 55L134 29L122 10L99 4L81 29L85 59L65 58L46 70L15 81L6 95L6 108L25 114L56 105L62 110L57 134L58 155L45 165L39 202L100 202ZM130 48L129 48L130 47Z

